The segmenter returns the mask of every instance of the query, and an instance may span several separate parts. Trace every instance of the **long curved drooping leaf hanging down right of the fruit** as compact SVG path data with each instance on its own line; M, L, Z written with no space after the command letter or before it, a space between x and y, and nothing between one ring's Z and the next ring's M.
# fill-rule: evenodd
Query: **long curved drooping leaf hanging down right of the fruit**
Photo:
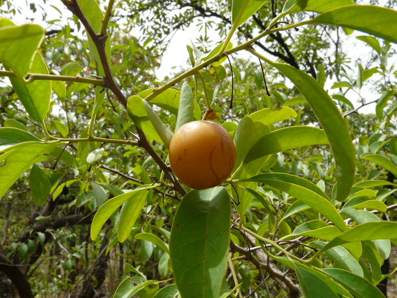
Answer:
M343 9L343 7L338 9ZM285 74L294 83L316 114L330 142L336 163L335 198L337 201L343 201L353 185L356 165L354 146L342 115L328 93L309 74L289 65L265 61Z

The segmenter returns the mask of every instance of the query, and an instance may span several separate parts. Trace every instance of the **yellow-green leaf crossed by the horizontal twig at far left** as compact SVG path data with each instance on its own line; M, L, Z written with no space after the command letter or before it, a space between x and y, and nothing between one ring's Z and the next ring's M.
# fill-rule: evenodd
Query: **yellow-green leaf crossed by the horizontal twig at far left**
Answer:
M34 55L29 71L36 74L49 74L46 63L38 51ZM10 77L9 80L26 112L33 120L43 122L50 107L51 81L34 80L26 85L22 84L16 77Z

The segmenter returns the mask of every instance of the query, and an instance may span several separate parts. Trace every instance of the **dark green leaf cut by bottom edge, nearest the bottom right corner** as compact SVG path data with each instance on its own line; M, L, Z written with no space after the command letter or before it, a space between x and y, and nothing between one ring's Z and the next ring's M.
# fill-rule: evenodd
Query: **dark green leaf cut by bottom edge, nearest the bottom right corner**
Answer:
M335 268L327 268L322 271L341 284L355 298L385 298L377 287L361 276Z

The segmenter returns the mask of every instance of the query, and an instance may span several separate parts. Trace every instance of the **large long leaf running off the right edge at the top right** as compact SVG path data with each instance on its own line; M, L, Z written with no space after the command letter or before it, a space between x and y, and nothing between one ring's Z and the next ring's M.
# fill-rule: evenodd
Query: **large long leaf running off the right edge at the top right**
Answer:
M320 14L309 23L343 26L397 43L397 11L375 5L347 5Z

